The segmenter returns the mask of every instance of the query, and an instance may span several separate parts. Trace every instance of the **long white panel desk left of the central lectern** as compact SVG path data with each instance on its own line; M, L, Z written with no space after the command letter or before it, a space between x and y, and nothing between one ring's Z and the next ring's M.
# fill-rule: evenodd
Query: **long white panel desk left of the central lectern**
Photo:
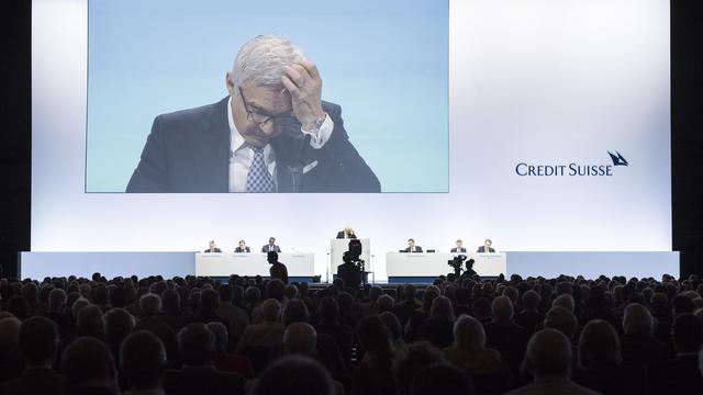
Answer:
M270 264L261 252L196 252L196 275L228 276L269 275ZM281 252L278 261L288 268L288 276L313 276L315 256L312 252Z

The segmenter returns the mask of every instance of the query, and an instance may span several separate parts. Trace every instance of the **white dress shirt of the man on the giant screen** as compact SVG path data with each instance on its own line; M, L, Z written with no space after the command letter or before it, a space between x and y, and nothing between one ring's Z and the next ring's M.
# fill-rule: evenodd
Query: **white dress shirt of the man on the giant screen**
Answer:
M234 117L232 116L232 97L230 97L230 100L227 101L227 123L230 124L230 192L246 192L246 177L249 173L252 161L254 161L254 150L252 147L246 145L244 137L242 137L234 125ZM316 134L308 132L301 127L302 133L311 136L310 146L314 149L324 147L324 145L330 140L333 129L334 122L330 115L325 117L325 121L322 123L322 126ZM267 144L264 147L264 161L266 162L268 172L274 179L276 190L278 190L278 183L276 180L276 153L274 153L270 144ZM316 161L305 166L303 168L303 173L312 170L315 165Z

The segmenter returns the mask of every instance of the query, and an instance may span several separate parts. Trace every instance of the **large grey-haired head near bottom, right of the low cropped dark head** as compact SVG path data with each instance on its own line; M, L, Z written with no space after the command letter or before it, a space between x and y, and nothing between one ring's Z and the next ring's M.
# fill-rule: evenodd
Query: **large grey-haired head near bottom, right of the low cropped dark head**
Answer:
M521 366L523 374L533 379L563 377L571 375L571 342L559 330L543 329L529 339L525 359Z

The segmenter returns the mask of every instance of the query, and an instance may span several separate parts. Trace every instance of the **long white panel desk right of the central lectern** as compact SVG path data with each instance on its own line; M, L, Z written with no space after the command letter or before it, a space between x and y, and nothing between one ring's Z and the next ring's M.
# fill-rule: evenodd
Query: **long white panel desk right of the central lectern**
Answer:
M473 270L480 275L499 275L506 271L506 260L504 252L480 253L480 252L387 252L386 273L389 278L412 278L412 276L436 276L440 273L453 273L447 261L458 255L473 259ZM466 268L466 266L462 266Z

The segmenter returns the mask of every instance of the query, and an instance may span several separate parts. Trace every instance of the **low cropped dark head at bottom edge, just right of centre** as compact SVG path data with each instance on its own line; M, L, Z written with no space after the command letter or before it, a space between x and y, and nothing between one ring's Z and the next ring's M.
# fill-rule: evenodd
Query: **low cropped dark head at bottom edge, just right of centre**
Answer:
M425 394L470 395L476 394L476 388L465 371L435 363L417 371L410 384L410 395Z

